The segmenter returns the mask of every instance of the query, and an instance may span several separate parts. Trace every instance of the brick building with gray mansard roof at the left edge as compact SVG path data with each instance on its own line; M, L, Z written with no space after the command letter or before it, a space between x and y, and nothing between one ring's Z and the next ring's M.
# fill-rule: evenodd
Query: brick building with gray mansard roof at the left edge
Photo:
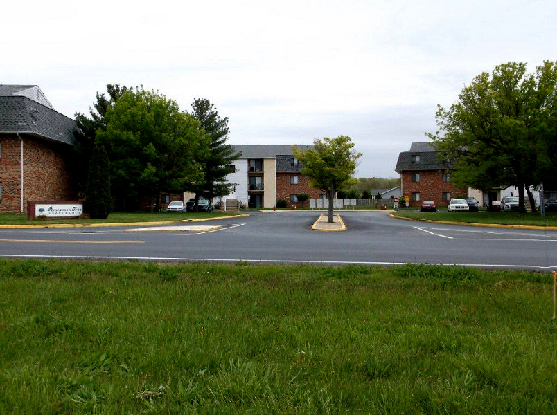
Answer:
M28 201L76 200L74 127L38 86L0 85L0 212L26 212Z

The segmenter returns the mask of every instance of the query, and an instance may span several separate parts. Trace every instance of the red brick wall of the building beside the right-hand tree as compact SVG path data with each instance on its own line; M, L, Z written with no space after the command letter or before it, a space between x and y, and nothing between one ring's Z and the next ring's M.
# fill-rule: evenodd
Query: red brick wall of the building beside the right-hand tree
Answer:
M412 174L420 174L420 181L413 182ZM403 172L403 196L412 193L420 194L420 201L410 201L410 206L419 206L423 201L434 201L437 205L446 206L448 201L443 201L443 192L450 192L451 197L466 196L466 189L454 187L450 182L443 181L443 171L405 171Z

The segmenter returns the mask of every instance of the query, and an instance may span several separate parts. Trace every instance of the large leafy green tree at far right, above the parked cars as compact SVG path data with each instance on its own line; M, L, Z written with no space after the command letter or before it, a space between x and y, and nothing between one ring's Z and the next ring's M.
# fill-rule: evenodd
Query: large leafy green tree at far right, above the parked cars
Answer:
M542 127L551 124L547 107L555 95L555 69L545 62L527 74L526 64L501 64L475 77L450 109L438 107L439 131L430 137L454 165L455 184L481 190L515 185L520 210L524 190L536 209L530 186L543 181L551 159L551 129Z

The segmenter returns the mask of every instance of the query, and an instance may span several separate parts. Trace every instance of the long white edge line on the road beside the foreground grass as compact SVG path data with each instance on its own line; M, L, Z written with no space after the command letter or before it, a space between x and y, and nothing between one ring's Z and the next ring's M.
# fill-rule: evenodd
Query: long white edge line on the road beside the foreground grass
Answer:
M486 268L531 268L531 269L552 269L557 265L517 265L517 264L443 264L435 262L387 262L387 261L319 261L301 259L245 259L245 258L182 258L182 257L111 257L105 255L24 255L24 254L0 254L5 258L48 258L48 259L137 259L145 261L188 261L188 262L249 262L254 264L358 264L358 265L439 265L439 266L465 266L465 267L486 267Z

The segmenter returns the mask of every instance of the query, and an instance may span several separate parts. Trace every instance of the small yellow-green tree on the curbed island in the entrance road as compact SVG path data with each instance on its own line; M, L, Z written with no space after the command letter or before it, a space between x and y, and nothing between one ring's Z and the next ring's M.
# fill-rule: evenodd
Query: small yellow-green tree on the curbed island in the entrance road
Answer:
M356 161L362 156L353 149L348 136L325 137L315 140L313 149L301 151L293 146L294 156L301 162L301 174L310 179L310 186L326 192L329 196L328 221L333 222L333 199L335 191L352 185Z

